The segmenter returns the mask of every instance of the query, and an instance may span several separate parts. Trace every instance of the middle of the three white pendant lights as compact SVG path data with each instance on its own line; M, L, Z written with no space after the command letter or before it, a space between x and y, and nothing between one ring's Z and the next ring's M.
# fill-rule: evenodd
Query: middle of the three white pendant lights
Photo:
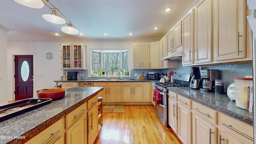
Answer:
M54 24L65 24L66 23L66 20L64 20L58 14L56 14L56 9L52 9L52 14L43 14L42 17L44 18L44 20L46 20L48 22L52 22Z

